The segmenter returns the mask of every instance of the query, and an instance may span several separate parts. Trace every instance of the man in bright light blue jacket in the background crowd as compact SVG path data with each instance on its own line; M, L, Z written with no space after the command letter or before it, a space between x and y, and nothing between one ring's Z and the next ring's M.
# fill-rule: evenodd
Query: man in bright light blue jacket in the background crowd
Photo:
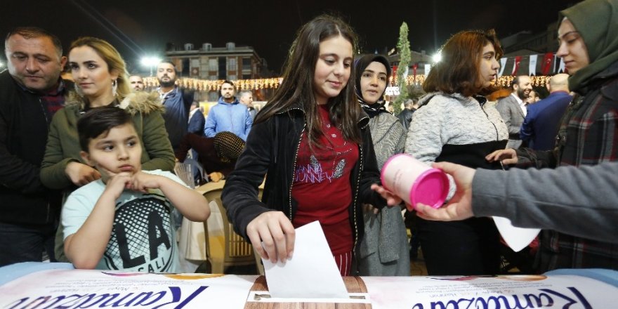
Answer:
M246 136L249 135L251 125L254 123L249 110L234 96L235 88L231 81L223 81L220 92L218 104L211 107L208 112L204 134L207 138L212 138L216 133L228 131L246 141Z

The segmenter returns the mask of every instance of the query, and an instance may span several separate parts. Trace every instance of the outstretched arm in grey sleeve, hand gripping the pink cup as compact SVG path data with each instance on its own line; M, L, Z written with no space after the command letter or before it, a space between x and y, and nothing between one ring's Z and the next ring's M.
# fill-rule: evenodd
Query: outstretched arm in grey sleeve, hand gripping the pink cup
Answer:
M456 221L501 216L522 228L548 228L570 235L616 242L618 162L558 169L490 171L441 162L457 191L440 209L417 204L426 220ZM594 223L594 224L591 224Z

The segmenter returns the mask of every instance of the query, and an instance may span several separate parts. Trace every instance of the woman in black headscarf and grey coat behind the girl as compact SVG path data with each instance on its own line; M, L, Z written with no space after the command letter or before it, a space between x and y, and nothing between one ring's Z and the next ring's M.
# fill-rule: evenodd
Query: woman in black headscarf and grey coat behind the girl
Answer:
M406 134L397 117L384 107L382 98L390 77L390 63L383 55L364 55L355 61L356 94L369 114L378 168L389 157L402 153ZM364 207L365 234L357 251L358 275L409 276L407 234L400 207Z

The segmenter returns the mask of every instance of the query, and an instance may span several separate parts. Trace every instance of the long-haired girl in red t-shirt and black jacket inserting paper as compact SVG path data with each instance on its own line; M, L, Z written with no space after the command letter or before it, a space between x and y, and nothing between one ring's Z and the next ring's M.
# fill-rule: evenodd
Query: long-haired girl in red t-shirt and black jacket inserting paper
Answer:
M355 44L350 26L328 15L301 28L282 84L256 116L225 183L235 230L270 261L291 257L294 228L320 221L341 275L349 275L363 235L361 203L386 204L371 189L379 172L369 117L348 82Z

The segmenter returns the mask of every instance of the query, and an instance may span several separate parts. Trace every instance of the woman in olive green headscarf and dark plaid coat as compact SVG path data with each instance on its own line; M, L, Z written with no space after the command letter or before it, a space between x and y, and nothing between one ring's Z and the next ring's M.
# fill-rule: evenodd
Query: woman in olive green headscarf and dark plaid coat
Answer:
M563 116L555 149L507 149L492 153L488 160L539 169L617 161L618 1L587 0L561 11L558 41L556 55L563 58L571 75L569 88L576 94ZM540 271L618 269L616 244L552 230L541 232L540 240Z

